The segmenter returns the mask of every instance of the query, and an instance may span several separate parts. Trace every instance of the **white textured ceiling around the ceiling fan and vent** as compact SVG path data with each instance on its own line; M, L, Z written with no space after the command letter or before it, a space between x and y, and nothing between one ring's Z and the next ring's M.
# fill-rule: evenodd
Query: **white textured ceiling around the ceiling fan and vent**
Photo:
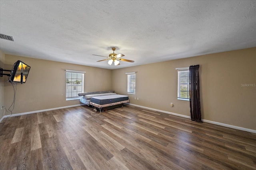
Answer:
M0 49L116 69L256 47L255 0L0 0ZM112 53L134 60L110 66Z

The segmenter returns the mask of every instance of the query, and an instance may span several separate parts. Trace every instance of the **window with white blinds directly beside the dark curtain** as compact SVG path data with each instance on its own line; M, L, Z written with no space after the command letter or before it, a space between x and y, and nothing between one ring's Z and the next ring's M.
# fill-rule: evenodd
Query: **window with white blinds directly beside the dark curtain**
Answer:
M178 99L189 100L189 67L178 70Z

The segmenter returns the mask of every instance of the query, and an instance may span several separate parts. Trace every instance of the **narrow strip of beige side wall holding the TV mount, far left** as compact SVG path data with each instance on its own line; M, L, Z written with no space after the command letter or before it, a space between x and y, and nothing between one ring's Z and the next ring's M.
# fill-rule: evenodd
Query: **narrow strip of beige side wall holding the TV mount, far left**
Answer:
M4 67L4 58L5 55L0 50L0 67L6 70ZM0 106L4 106L4 76L0 77ZM0 119L2 119L2 117L4 117L4 110L0 109Z

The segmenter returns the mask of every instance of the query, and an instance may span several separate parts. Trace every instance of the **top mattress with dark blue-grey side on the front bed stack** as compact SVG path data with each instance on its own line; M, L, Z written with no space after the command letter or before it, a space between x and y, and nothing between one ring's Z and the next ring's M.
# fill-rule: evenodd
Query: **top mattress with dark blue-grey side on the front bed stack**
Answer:
M126 100L129 100L128 96L121 95L121 94L112 94L112 95L106 95L106 96L93 96L91 98L90 103L104 105L104 104L122 102Z

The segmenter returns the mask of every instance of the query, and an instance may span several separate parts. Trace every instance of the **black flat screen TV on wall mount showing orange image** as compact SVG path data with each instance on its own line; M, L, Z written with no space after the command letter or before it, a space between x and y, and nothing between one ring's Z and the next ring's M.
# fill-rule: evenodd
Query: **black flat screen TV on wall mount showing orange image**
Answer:
M9 76L9 82L11 83L26 83L30 66L24 62L18 60L13 64L11 74Z

